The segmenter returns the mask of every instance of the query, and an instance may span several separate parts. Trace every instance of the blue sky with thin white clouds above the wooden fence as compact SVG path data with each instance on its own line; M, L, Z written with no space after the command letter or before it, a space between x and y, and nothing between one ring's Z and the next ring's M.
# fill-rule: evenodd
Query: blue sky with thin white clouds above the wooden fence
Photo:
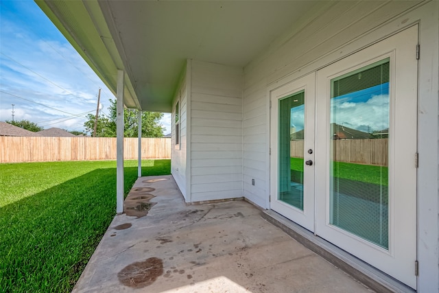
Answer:
M0 1L0 121L84 130L102 89L102 113L115 99L34 1ZM171 132L165 114L164 134Z

